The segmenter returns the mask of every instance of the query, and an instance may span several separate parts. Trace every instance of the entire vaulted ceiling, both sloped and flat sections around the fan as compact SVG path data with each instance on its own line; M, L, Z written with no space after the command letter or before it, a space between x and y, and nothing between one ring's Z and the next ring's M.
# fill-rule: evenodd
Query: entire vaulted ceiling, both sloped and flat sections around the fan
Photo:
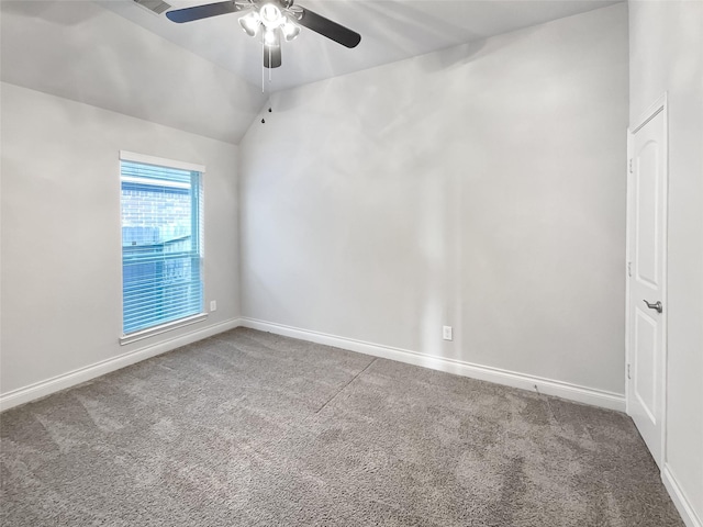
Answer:
M174 9L213 0L169 1ZM617 3L617 0L301 0L361 34L310 30L263 79L261 44L227 14L175 24L134 0L0 1L0 79L238 143L268 93Z

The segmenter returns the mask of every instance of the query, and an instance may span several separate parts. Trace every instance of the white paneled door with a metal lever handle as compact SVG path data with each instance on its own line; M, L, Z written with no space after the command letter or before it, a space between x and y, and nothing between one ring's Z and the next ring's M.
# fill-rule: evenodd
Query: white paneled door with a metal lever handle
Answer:
M655 105L629 138L627 408L657 464L663 452L667 346L667 128Z

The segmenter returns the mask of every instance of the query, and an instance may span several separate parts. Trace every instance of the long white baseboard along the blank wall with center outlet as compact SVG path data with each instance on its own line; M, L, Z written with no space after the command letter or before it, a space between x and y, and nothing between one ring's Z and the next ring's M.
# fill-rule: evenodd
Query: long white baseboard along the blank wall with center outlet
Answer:
M366 343L364 340L356 340L325 333L311 332L308 329L258 321L255 318L244 317L241 319L241 325L252 329L275 333L277 335L299 338L327 346L335 346L337 348L358 351L373 357L398 360L399 362L422 366L433 370L446 371L448 373L470 377L481 381L495 382L498 384L504 384L512 388L535 391L536 386L536 389L539 390L539 393L547 395L556 395L569 401L591 404L610 410L617 410L620 412L625 411L625 395L620 393L579 386L568 382L544 379L489 366L473 365L471 362L460 360L446 359L408 349L393 348L391 346Z

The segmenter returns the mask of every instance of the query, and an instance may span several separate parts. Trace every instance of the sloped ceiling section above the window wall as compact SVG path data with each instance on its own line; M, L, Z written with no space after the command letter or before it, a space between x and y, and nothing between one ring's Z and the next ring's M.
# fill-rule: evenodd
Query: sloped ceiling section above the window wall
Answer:
M0 0L0 13L3 82L234 144L266 102L260 88L94 2Z

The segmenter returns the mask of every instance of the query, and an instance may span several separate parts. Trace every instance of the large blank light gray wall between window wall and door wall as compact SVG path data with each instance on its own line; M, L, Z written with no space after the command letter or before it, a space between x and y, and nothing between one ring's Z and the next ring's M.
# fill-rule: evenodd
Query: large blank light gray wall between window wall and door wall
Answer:
M627 65L616 4L275 94L243 314L622 394Z

